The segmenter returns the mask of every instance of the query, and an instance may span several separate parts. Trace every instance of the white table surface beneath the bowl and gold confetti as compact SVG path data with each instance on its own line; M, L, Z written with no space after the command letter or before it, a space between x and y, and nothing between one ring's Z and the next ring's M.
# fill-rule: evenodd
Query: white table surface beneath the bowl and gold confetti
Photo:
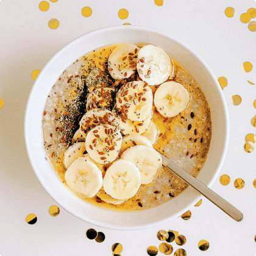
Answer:
M256 32L240 21L240 15L256 8L253 0L171 1L157 6L154 0L68 1L49 3L49 10L39 9L40 0L0 1L0 255L112 255L112 245L121 243L121 255L148 255L149 246L159 246L158 230L176 230L187 242L171 243L173 252L183 248L194 255L255 255L256 254L256 151L244 151L245 137L256 133L251 119L256 115ZM90 7L89 17L82 15ZM227 7L236 11L232 18L225 15ZM129 16L122 20L120 9ZM48 21L59 20L51 29ZM256 21L252 18L251 21ZM106 26L130 23L158 29L170 34L201 55L217 78L227 77L224 88L230 115L230 141L222 170L212 186L244 213L242 222L235 222L215 205L202 199L199 207L191 208L192 216L185 221L173 219L161 226L138 231L117 231L96 227L77 219L60 207L58 216L48 209L56 203L38 182L24 143L24 113L32 72L43 66L65 44L82 34ZM252 63L252 71L241 65ZM230 98L241 96L241 104ZM1 100L0 100L1 101ZM1 103L1 102L0 102ZM1 104L0 104L1 106ZM221 185L219 177L227 174L229 185ZM238 190L236 179L245 185ZM27 224L26 216L34 213L37 222ZM86 236L88 229L105 234L97 243ZM207 240L210 247L201 251L198 243ZM164 255L158 252L158 255Z

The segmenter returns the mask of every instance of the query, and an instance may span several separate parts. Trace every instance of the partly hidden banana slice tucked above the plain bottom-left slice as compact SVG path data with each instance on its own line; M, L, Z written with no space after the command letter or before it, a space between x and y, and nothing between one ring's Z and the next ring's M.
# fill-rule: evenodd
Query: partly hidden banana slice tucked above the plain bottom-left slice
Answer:
M79 157L82 157L85 152L85 143L78 142L70 146L64 153L63 163L66 169Z

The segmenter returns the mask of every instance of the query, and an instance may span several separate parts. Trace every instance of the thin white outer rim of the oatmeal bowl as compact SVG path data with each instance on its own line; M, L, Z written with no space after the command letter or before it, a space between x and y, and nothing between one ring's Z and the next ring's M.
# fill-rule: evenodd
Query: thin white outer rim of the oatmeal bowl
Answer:
M66 51L66 49L72 47L73 44L76 44L79 40L81 40L81 38L91 37L92 35L100 34L103 31L106 32L106 31L118 30L118 29L122 29L122 30L131 30L131 29L134 29L134 30L144 30L146 32L153 32L154 34L162 35L163 37L166 37L169 40L175 41L176 43L178 43L181 46L183 46L183 48L185 48L189 52L191 52L191 54L193 54L196 57L196 59L199 60L199 62L201 62L202 65L204 65L204 67L205 67L205 69L207 69L207 72L210 75L211 79L217 85L216 86L216 90L218 90L218 94L220 96L221 103L222 103L222 105L224 107L223 108L223 110L224 110L224 119L225 119L226 123L224 124L224 131L225 131L224 138L225 138L225 141L224 141L224 147L222 149L221 160L219 161L218 167L217 167L217 169L215 171L215 174L212 176L212 179L210 180L210 182L205 184L208 187L212 186L213 182L215 182L216 178L218 177L218 174L219 174L219 171L221 169L221 166L224 163L224 159L226 157L226 152L227 152L227 147L228 147L228 142L229 142L229 115L228 115L228 111L227 111L227 104L226 104L226 100L224 98L224 94L223 94L223 92L221 90L221 87L219 86L218 80L216 79L215 75L213 74L213 71L210 69L210 67L207 65L207 63L205 63L205 61L199 55L197 55L196 52L194 52L186 44L184 44L181 41L177 40L177 38L172 37L171 35L166 34L165 32L161 32L161 31L156 30L156 29L151 29L149 27L134 26L134 25L129 25L129 26L119 25L119 26L103 27L101 29L96 29L96 30L93 30L91 32L87 32L84 35L80 35L80 37L74 39L73 41L71 41L68 44L66 44L62 49L60 49L60 51L58 51L49 60L49 62L44 66L44 68L40 71L40 73L37 76L37 79L35 79L33 87L30 90L29 98L27 100L27 105L26 105L25 118L24 118L24 138L25 138L26 149L27 149L27 154L29 156L30 164L32 165L32 168L33 168L33 170L34 170L38 180L40 181L42 187L44 188L44 190L46 190L46 192L52 197L52 199L54 199L55 202L57 202L57 204L61 205L63 208L65 208L65 210L67 210L69 213L71 213L72 215L76 216L77 218L80 218L83 221L86 221L86 222L88 222L90 224L93 224L95 226L104 227L104 228L107 228L107 229L115 229L115 230L140 230L140 229L147 229L147 228L150 228L150 227L158 226L160 224L163 224L163 223L166 223L166 222L170 221L171 219L177 218L180 215L176 214L176 215L170 216L169 218L163 219L162 221L157 221L157 222L153 222L153 223L150 223L150 224L144 224L142 226L132 226L132 227L130 227L130 226L115 226L115 225L110 226L109 224L105 224L104 222L101 222L101 221L93 221L92 219L87 219L87 218L85 219L84 216L78 215L73 209L70 209L70 208L66 207L65 202L60 201L60 199L58 197L56 197L54 193L52 193L51 189L49 189L49 187L47 187L47 185L44 183L43 179L41 179L40 171L38 171L38 167L35 165L35 163L33 161L32 151L31 151L32 149L30 148L30 145L28 143L28 136L29 136L29 132L28 132L28 129L29 129L29 107L31 105L31 101L33 99L32 98L33 97L33 93L36 90L38 81L41 79L41 77L44 76L44 73L45 73L46 69L48 69L48 67L51 65L51 62L53 62L54 59L56 59L57 57L62 55L63 52ZM86 54L86 52L85 52L85 54ZM188 190L188 188L187 188L187 190ZM191 208L191 206L196 204L201 198L202 198L202 195L198 193L198 196L189 205L187 205L187 207L186 207L187 210L189 208ZM147 210L143 210L143 211L147 211Z

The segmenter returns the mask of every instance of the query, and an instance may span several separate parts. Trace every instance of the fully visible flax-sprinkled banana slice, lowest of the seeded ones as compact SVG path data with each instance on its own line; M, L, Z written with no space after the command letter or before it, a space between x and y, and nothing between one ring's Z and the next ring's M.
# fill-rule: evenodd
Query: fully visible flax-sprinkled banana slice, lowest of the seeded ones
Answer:
M111 163L118 157L122 135L118 127L105 124L96 126L87 133L85 149L97 163Z

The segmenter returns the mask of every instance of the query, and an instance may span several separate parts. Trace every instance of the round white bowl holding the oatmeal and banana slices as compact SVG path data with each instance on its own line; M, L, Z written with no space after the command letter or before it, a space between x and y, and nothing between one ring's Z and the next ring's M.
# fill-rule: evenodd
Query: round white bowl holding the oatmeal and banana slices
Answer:
M113 43L149 43L160 46L177 60L201 86L212 110L212 142L207 160L197 179L210 187L221 169L227 151L229 119L226 101L214 74L195 52L176 38L139 26L114 26L82 35L52 57L41 70L27 102L25 140L30 163L49 195L74 216L108 229L136 230L170 221L196 204L201 195L189 187L169 202L148 210L117 212L89 204L72 193L44 157L42 113L46 98L62 71L78 57Z

